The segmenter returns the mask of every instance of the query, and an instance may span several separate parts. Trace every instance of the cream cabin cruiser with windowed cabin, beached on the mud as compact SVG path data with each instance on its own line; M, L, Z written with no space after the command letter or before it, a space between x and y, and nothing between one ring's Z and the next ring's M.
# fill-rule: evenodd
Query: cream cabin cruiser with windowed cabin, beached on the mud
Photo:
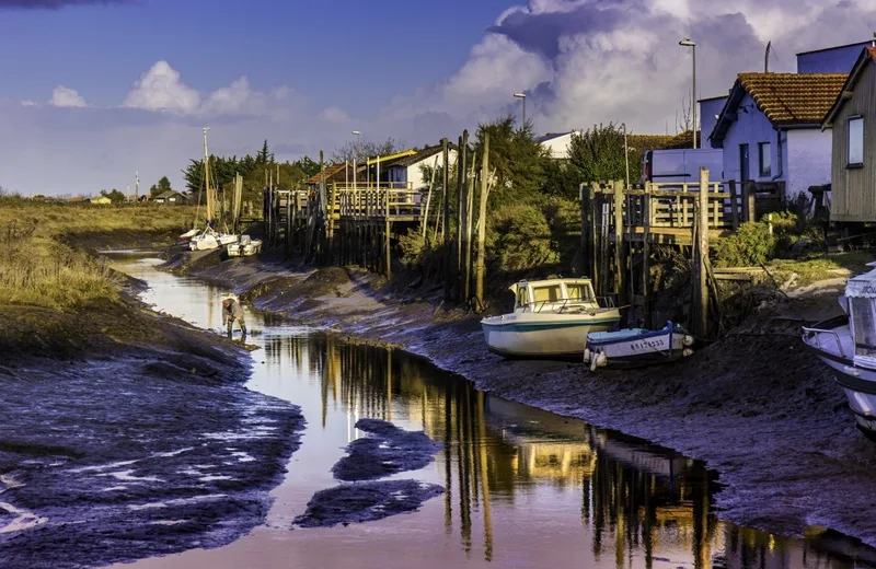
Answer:
M575 358L588 332L614 328L621 314L611 301L600 305L590 279L520 281L510 314L481 321L491 351L511 358Z

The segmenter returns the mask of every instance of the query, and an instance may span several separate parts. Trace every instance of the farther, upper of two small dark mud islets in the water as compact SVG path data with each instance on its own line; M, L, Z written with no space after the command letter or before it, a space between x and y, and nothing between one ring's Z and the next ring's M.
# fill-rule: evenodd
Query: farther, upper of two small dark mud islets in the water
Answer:
M405 431L380 419L359 419L356 428L370 436L347 445L347 455L332 467L338 480L373 480L418 471L428 466L441 450L426 433Z

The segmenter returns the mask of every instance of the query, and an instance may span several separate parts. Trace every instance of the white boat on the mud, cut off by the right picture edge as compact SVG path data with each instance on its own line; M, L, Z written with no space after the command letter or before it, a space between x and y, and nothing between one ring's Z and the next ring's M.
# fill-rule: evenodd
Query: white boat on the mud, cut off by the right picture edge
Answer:
M804 327L803 342L830 365L857 427L876 439L876 269L849 279L840 305L845 314Z

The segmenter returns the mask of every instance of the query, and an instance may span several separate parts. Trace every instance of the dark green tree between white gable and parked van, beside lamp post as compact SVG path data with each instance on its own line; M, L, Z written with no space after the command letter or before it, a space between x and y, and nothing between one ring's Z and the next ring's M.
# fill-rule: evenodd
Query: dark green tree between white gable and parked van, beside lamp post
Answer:
M595 125L587 132L572 135L568 158L581 182L626 179L623 130L613 123ZM631 149L629 160L631 173L637 172L641 151Z

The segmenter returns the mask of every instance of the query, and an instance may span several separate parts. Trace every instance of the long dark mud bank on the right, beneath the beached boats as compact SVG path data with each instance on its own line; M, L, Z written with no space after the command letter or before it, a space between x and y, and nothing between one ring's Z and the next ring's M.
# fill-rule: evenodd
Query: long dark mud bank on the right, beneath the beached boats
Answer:
M800 320L834 314L837 290L776 295L692 358L638 371L507 361L479 317L446 310L440 291L405 290L357 269L266 258L174 256L166 265L234 287L255 307L403 347L484 391L648 439L706 461L725 489L722 516L773 533L827 526L876 545L876 445L854 428L829 369L806 355Z

